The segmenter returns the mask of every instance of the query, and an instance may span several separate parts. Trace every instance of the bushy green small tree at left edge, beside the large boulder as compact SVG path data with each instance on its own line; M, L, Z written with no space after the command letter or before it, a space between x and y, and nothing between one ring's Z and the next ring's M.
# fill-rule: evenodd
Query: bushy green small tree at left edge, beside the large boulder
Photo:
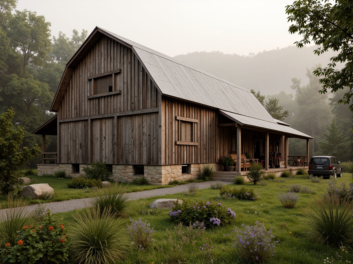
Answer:
M0 193L12 193L22 183L20 167L30 158L38 155L41 148L35 145L28 149L20 149L24 137L22 127L14 128L12 118L15 115L13 108L0 114Z

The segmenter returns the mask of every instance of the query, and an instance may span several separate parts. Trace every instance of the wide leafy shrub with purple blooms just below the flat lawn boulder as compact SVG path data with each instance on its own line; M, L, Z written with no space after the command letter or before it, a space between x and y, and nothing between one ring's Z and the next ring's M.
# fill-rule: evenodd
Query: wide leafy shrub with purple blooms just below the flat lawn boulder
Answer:
M174 202L174 207L169 211L170 220L175 223L201 223L204 222L205 227L216 227L219 225L229 224L235 218L235 213L231 208L225 208L221 203L190 202L189 199L183 199L183 203Z

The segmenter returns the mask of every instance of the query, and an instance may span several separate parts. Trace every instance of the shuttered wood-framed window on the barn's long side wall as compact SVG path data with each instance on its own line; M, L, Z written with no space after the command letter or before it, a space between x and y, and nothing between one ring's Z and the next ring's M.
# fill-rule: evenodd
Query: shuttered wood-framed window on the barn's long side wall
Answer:
M176 116L178 124L177 145L198 145L197 143L197 125L198 120Z

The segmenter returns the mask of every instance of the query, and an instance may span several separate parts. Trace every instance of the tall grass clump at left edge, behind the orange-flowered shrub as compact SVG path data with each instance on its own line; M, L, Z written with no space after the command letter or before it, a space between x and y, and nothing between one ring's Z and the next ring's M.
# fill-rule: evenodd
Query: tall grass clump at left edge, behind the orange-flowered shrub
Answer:
M17 231L31 222L32 214L28 214L26 206L28 206L26 200L7 197L7 208L0 214L1 248L4 248L7 243L15 245Z

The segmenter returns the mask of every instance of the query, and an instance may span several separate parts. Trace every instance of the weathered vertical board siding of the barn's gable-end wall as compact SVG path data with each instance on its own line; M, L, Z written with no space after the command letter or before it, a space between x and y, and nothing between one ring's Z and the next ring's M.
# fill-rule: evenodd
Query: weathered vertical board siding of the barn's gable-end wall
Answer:
M121 94L88 98L88 77L119 69L113 82ZM160 101L131 48L102 37L74 68L59 107L59 163L161 164Z

